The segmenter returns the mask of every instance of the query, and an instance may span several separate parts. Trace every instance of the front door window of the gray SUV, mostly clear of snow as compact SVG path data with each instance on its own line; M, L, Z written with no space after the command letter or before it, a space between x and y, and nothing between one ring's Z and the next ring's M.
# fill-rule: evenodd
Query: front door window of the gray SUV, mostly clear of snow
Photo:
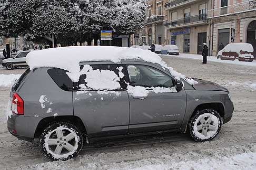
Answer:
M144 65L127 65L131 86L165 87L174 86L174 80L160 70Z

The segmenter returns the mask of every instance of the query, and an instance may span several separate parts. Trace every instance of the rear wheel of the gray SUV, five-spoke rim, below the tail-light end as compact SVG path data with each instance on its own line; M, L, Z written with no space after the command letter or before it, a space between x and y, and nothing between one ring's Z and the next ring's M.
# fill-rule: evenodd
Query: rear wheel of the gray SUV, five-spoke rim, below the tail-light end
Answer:
M75 157L83 146L83 134L71 122L54 122L40 137L40 148L52 161L66 161Z

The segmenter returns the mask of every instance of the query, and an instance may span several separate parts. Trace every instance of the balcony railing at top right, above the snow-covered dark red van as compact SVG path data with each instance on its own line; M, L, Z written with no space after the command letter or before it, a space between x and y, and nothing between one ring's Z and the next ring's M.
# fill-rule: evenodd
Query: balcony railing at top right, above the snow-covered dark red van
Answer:
M245 1L233 5L208 10L208 17L212 18L231 14L238 14L248 12L250 10L256 10L256 0Z

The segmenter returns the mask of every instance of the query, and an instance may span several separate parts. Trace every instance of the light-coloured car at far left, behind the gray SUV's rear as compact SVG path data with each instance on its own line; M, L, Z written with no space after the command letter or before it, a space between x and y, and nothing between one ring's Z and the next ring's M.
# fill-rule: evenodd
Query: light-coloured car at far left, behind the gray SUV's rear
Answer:
M8 70L12 70L17 67L25 67L27 66L26 56L29 52L30 51L19 51L15 57L4 59L2 65Z

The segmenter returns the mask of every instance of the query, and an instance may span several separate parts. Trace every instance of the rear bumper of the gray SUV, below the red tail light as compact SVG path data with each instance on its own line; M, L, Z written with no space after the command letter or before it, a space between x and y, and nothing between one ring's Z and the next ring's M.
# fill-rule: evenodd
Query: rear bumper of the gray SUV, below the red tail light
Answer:
M8 117L7 129L18 139L32 142L34 139L36 127L40 120L40 117L25 117L24 115L13 114L11 118ZM16 131L16 133L14 133L14 131Z

